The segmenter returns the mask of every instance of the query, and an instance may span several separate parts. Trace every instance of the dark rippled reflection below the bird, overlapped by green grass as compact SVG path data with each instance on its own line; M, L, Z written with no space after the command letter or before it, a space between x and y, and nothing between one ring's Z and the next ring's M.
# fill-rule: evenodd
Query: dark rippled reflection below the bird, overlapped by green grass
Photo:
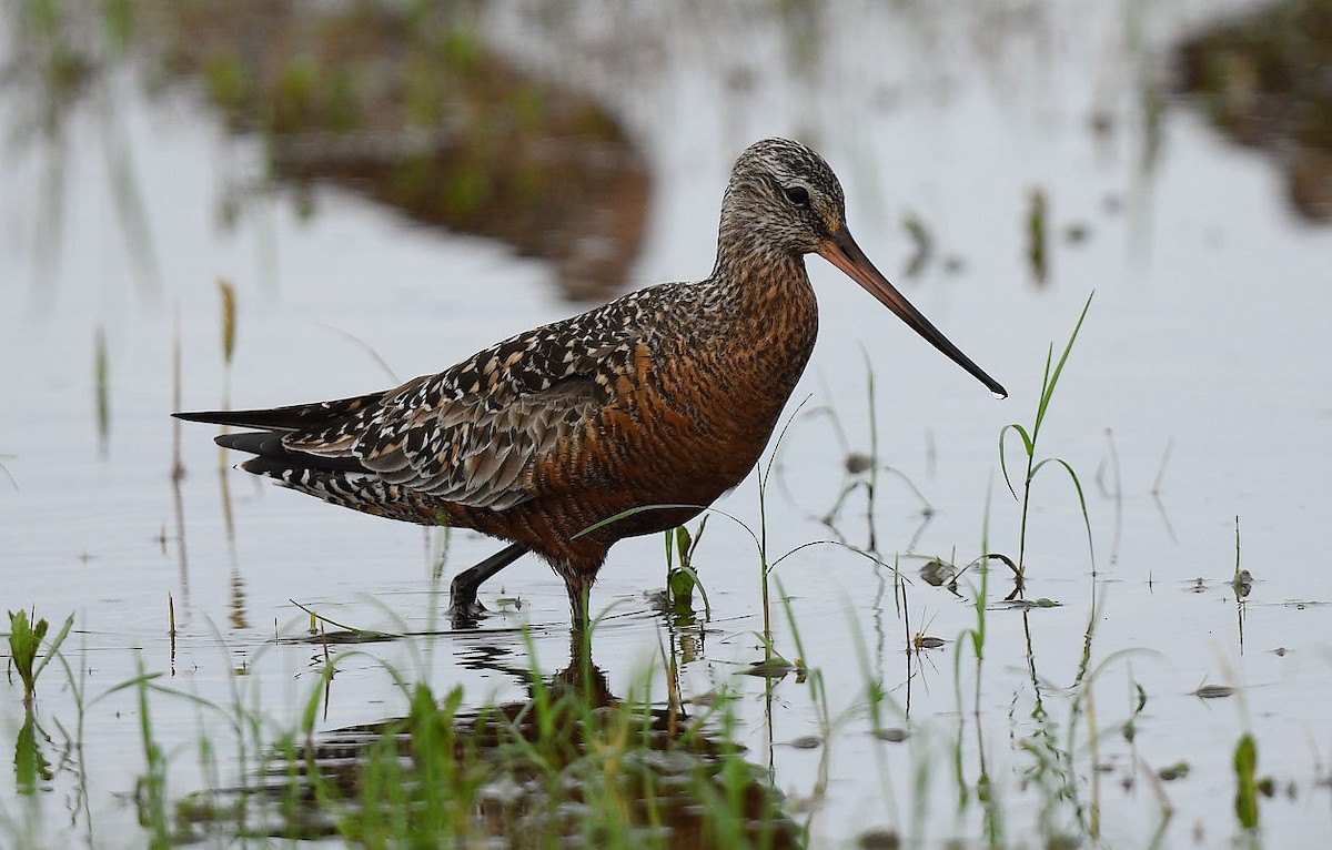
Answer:
M614 695L581 637L569 665L543 679L503 647L462 655L526 697L466 709L460 690L437 701L416 685L409 715L338 729L277 759L260 785L278 818L260 829L374 845L401 834L393 811L413 821L413 839L469 846L547 847L602 833L669 847L801 846L782 795L738 745L674 699Z

